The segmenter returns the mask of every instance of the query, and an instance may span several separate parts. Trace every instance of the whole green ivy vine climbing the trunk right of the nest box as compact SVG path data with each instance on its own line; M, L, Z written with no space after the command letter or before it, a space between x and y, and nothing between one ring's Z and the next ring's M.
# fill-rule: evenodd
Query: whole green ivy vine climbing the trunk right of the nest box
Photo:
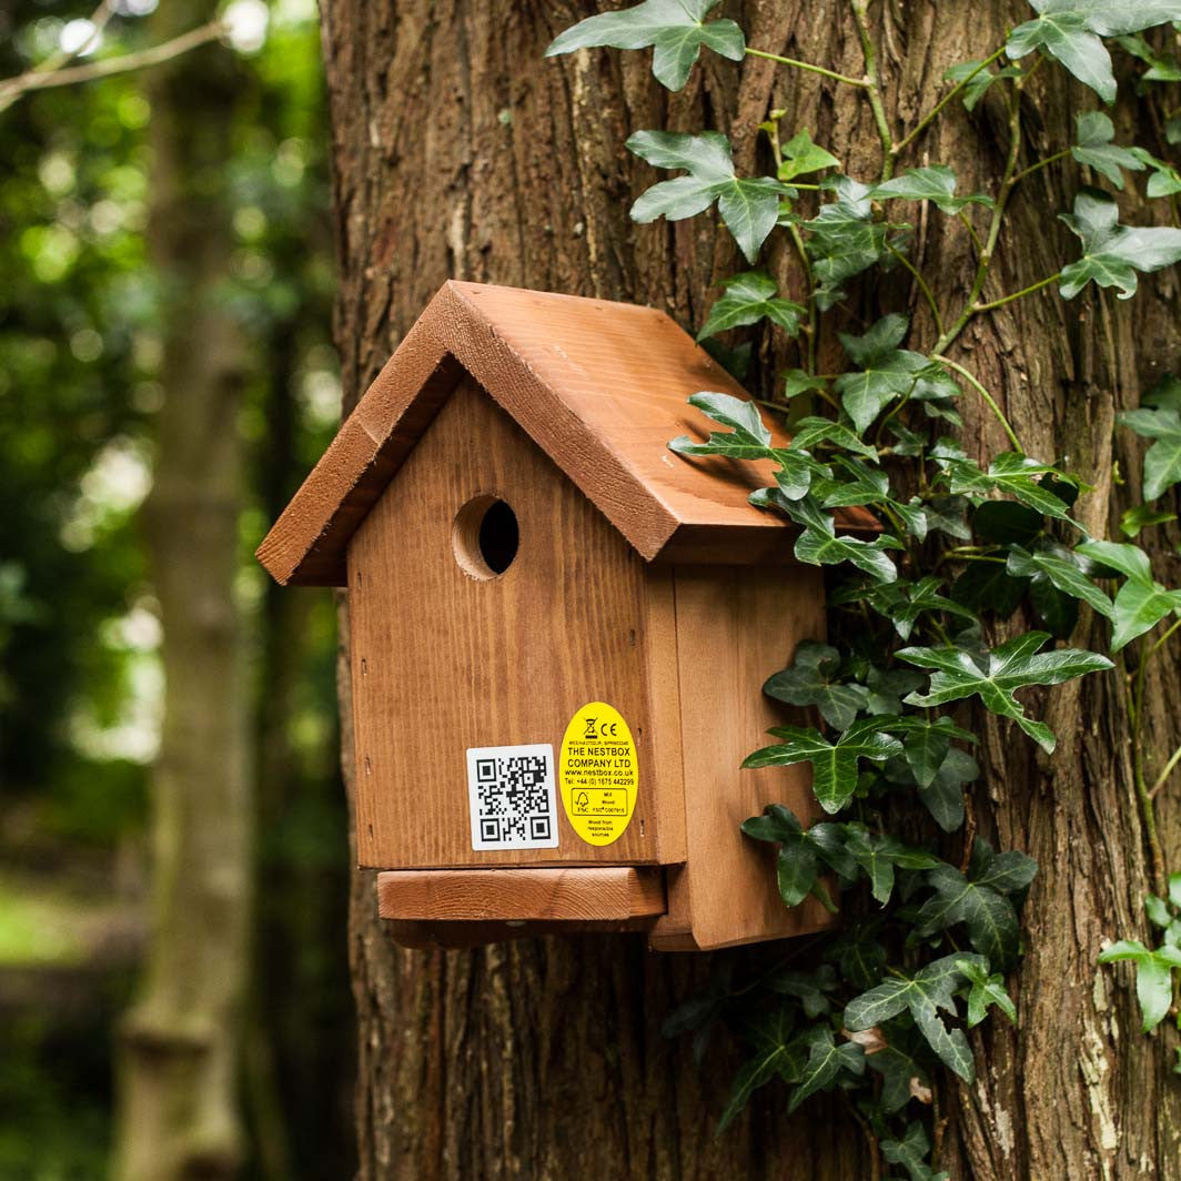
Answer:
M1081 476L1031 456L988 390L948 353L974 318L1043 288L1056 285L1070 300L1094 283L1127 299L1140 274L1181 260L1181 228L1122 224L1115 195L1138 175L1146 196L1167 201L1177 223L1181 174L1172 164L1116 143L1102 110L1077 116L1072 144L1031 159L1020 102L1049 58L1110 104L1113 47L1138 63L1141 87L1181 80L1177 58L1159 47L1176 41L1181 0L1031 0L1032 19L1011 30L1004 45L950 70L945 93L900 138L886 115L867 0L848 0L863 53L860 76L746 45L735 21L711 17L717 4L645 0L581 21L547 52L651 48L653 73L670 90L685 85L703 50L818 74L864 96L881 169L873 178L847 175L835 145L814 143L807 129L785 135L782 111L759 129L774 175L739 175L729 139L717 131L645 130L627 141L653 168L678 174L644 193L632 217L676 221L716 207L751 268L720 285L699 339L739 377L742 351L717 342L719 333L769 321L796 342L798 354L797 367L783 374L768 402L694 394L690 403L718 429L704 442L683 437L670 446L683 456L771 461L775 482L751 501L798 527L795 556L829 568L831 608L830 642L802 644L791 666L764 685L769 696L813 710L817 724L772 730L775 742L744 764L809 763L816 800L830 818L804 828L772 803L743 831L776 847L787 906L813 895L835 911L829 885L839 882L842 926L809 945L809 960L818 966L801 967L789 954L764 977L743 983L723 966L705 993L673 1013L666 1032L693 1031L700 1048L720 1020L739 1029L749 1055L720 1128L774 1078L789 1087L789 1110L836 1089L875 1146L875 1175L883 1159L912 1181L932 1181L946 1176L938 1172L942 1122L938 1113L922 1117L934 1105L933 1077L946 1068L971 1082L966 1030L993 1010L1017 1020L1005 974L1018 965L1018 914L1037 872L1023 853L997 853L976 835L965 789L980 775L972 756L978 736L964 729L961 713L944 710L976 700L1052 753L1055 735L1017 694L1114 667L1107 654L1058 646L1084 613L1110 621L1109 651L1123 653L1154 886L1147 916L1160 931L1159 946L1121 939L1101 961L1135 964L1146 1031L1177 1011L1181 874L1169 874L1155 798L1181 763L1181 748L1150 769L1140 736L1146 671L1181 629L1181 589L1156 581L1136 539L1175 518L1153 503L1181 482L1181 380L1166 378L1140 409L1121 416L1153 441L1144 459L1146 503L1124 515L1124 540L1100 540L1074 515L1089 491ZM1166 37L1150 32L1160 26L1167 26ZM960 194L955 174L942 164L900 170L954 100L971 116L992 87L1003 93L1007 141L988 193ZM1181 142L1181 110L1168 117L1164 138ZM1077 257L1023 291L990 292L1013 193L1040 169L1066 161L1090 182L1061 214L1079 240ZM912 227L902 207L916 202L954 220L974 250L976 272L954 315L944 314L909 257ZM798 257L805 289L795 298L758 268L772 235L784 236ZM934 341L907 347L908 318L885 315L861 335L837 333L848 366L818 372L826 314L842 305L850 281L877 267L909 273L929 308ZM986 465L954 436L965 392L984 402L1010 443ZM784 416L790 442L776 443L759 405ZM1040 626L994 642L996 625L1020 607ZM906 835L922 831L907 800L929 814L931 839ZM963 836L940 841L940 831ZM952 861L937 852L948 846L959 850Z

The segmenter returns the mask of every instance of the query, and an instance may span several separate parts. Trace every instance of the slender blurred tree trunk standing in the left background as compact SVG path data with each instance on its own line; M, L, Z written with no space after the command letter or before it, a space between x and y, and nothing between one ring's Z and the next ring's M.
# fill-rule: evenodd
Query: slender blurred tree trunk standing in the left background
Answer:
M163 41L216 5L162 5ZM152 934L122 1029L116 1175L234 1176L250 905L248 702L234 605L243 344L224 285L240 77L207 47L151 77L149 244L163 300L165 402L145 508L164 629L164 730L152 776Z

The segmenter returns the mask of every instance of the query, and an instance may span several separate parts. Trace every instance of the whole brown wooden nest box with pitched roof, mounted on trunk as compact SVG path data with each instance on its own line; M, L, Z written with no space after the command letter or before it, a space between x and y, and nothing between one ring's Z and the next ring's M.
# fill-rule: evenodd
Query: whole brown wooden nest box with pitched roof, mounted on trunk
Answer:
M739 763L821 573L746 501L770 469L668 451L699 390L746 397L660 312L449 282L260 547L348 588L357 849L399 941L829 925L738 828L815 815L807 768Z

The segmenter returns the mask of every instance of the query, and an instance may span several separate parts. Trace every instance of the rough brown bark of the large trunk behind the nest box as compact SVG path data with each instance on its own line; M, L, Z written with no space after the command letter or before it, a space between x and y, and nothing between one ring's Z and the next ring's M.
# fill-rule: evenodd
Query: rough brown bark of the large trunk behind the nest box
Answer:
M648 76L647 54L542 59L556 32L607 6L325 2L346 406L449 275L645 301L699 325L711 282L739 269L739 260L707 218L629 223L631 200L654 178L624 150L633 130L715 126L731 133L739 167L751 168L753 129L778 106L789 112L785 130L808 126L853 175L875 174L868 105L814 76L711 58L683 93L668 96ZM759 48L862 72L840 0L749 0L726 5L725 14ZM872 5L895 131L931 105L948 65L984 57L1027 15L1022 0ZM1130 87L1124 94L1117 120L1124 130L1138 123L1140 138L1150 139L1150 112L1131 105ZM1052 151L1070 142L1072 112L1092 96L1043 66L1026 102L1033 150ZM957 104L907 163L929 154L952 164L971 191L999 174L1004 150L1004 120L991 103L972 120ZM1048 210L1069 208L1071 183L1069 172L1048 168L1023 187L990 291L1019 289L1070 256L1071 240ZM916 229L915 252L937 279L937 295L958 308L971 275L961 234L939 218ZM798 291L790 257L771 265ZM1113 435L1114 415L1175 363L1177 295L1173 275L1147 283L1131 305L1095 298L1066 305L1043 293L977 320L953 353L1001 392L1035 454L1069 455L1090 477L1097 490L1087 502L1088 523L1097 535L1115 529L1125 496L1116 463L1123 471L1138 463L1128 438ZM913 312L920 339L932 344L905 274L862 291L852 308L854 322L899 309ZM757 355L763 374L782 360L766 341ZM996 423L967 409L967 446L1003 450ZM347 752L345 652L340 674ZM1155 766L1177 738L1164 704L1176 693L1177 670L1164 665L1159 676L1167 683L1150 694L1161 704L1147 720ZM1013 981L1020 1027L991 1024L974 1036L979 1081L940 1096L941 1163L954 1177L978 1181L1177 1179L1175 1035L1142 1037L1129 977L1095 965L1102 940L1144 934L1148 876L1121 674L1055 691L1049 720L1062 736L1051 761L996 724L981 751L980 831L1026 850L1040 874L1024 916L1027 955ZM1181 850L1177 795L1174 783L1160 800L1174 852ZM703 1072L686 1046L665 1044L658 1032L707 972L704 958L648 955L627 938L399 952L376 918L370 874L354 879L351 953L365 1179L868 1175L860 1133L839 1105L788 1118L774 1088L713 1140L727 1083L724 1051Z

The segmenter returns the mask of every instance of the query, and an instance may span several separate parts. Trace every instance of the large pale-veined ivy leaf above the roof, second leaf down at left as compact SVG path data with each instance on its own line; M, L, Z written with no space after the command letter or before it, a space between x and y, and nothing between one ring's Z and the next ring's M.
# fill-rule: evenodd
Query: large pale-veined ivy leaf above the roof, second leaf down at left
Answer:
M792 190L768 176L739 177L735 172L730 141L719 131L698 136L679 131L637 131L627 148L655 168L683 168L689 175L661 181L632 205L632 220L658 217L679 221L709 209L718 213L735 236L748 262L753 262L766 235L775 229L779 198Z

